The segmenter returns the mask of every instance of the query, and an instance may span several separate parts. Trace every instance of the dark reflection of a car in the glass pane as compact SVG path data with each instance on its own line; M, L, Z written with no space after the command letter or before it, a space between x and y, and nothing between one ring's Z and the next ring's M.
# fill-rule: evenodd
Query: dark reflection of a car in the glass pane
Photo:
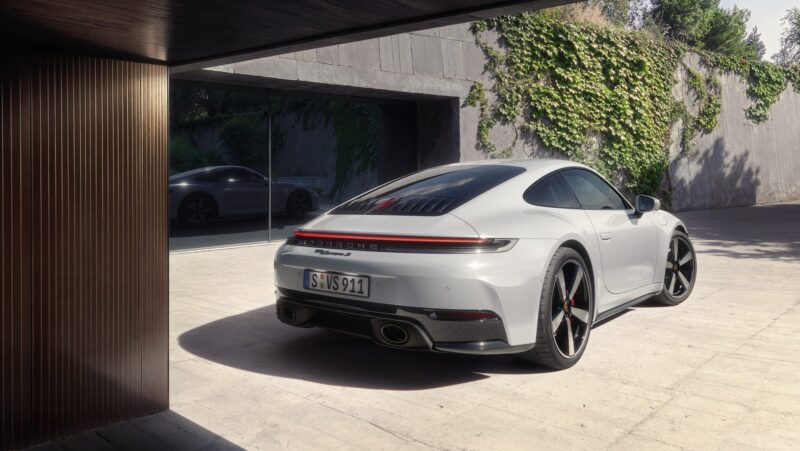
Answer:
M203 226L215 218L266 214L269 180L242 166L212 166L169 178L170 219ZM272 182L272 212L303 217L319 196L299 185Z

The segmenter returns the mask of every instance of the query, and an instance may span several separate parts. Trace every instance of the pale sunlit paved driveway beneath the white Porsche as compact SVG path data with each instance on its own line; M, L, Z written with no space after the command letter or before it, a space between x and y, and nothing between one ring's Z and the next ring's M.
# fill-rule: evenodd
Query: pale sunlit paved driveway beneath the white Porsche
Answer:
M172 254L171 414L248 449L796 449L800 203L681 216L692 297L563 372L284 326L274 245Z

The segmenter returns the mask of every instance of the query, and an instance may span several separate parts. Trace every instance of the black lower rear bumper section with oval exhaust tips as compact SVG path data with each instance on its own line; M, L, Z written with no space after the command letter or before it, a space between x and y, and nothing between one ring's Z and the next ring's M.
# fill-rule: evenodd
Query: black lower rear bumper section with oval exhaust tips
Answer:
M309 296L285 289L280 294L277 313L286 324L336 330L393 348L490 355L523 352L533 346L509 345L503 321L497 316L441 320L437 319L441 311L434 309Z

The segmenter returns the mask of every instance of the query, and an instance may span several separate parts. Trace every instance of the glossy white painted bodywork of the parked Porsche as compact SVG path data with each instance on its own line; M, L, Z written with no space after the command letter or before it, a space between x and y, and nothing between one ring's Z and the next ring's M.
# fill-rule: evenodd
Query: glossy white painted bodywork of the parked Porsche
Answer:
M517 165L526 172L441 216L322 215L302 227L320 232L404 236L515 239L509 250L486 253L320 252L284 244L275 256L279 289L303 288L305 269L369 275L370 302L426 309L490 310L505 327L508 345L535 341L537 312L548 264L565 243L585 250L593 272L595 316L657 294L663 285L673 231L685 226L664 211L550 208L522 194L542 177L565 168L560 160L492 160L474 164ZM611 234L611 239L602 239ZM347 255L344 255L347 254ZM329 297L361 301L344 294Z

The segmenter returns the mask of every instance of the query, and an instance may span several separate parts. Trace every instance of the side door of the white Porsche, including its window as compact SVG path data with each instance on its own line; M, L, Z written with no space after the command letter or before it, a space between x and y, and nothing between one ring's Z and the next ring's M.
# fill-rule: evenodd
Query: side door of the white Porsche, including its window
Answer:
M637 216L625 198L591 171L569 169L561 175L597 234L608 291L625 293L653 283L658 229L650 215Z

